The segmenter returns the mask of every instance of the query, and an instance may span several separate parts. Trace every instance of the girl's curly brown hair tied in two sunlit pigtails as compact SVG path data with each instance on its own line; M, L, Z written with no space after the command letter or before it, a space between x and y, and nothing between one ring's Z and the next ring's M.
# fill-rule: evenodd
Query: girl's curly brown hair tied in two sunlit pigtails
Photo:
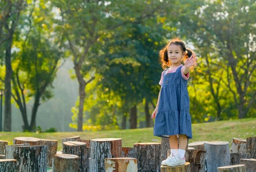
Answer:
M160 58L160 62L162 64L163 69L166 69L172 65L171 61L168 58L168 47L171 44L179 45L181 47L182 51L185 52L185 57L182 59L182 63L184 63L184 61L187 58L191 57L194 54L194 52L192 50L186 49L186 46L181 39L174 38L174 39L170 40L165 45L165 47L162 50L160 50L160 52L159 52L159 58ZM194 66L191 66L191 69L193 69L193 68L194 68Z

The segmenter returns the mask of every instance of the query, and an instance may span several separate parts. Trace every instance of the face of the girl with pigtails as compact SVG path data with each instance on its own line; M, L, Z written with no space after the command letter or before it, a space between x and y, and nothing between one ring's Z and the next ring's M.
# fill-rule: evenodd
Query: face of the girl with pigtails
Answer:
M172 63L172 66L180 66L185 52L182 51L180 45L171 44L168 47L168 58Z

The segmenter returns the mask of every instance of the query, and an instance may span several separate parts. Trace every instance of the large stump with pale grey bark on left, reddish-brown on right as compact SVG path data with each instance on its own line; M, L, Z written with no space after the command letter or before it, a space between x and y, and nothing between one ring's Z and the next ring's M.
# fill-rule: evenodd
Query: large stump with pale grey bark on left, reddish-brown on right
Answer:
M90 141L90 151L90 172L104 172L105 158L117 158L122 156L122 139L92 139Z

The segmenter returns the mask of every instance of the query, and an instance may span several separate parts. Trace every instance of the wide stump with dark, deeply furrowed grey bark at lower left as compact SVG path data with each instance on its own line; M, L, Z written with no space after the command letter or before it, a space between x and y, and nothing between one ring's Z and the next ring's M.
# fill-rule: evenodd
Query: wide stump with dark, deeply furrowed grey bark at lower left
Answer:
M16 146L13 152L17 172L46 172L47 146Z

